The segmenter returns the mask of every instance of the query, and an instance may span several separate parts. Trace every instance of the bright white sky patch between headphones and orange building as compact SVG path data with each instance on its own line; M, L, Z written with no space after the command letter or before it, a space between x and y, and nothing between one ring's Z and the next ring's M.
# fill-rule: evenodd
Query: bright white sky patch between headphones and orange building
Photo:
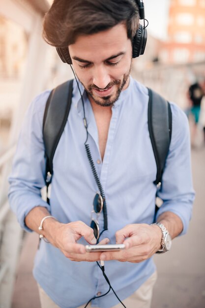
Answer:
M144 0L147 31L154 37L166 39L170 0Z

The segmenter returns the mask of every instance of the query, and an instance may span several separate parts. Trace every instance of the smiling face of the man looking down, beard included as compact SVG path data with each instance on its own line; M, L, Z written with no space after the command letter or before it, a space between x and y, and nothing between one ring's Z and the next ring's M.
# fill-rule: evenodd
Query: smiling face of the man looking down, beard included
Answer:
M69 46L69 53L89 99L101 106L113 106L129 83L132 45L125 25L80 35Z

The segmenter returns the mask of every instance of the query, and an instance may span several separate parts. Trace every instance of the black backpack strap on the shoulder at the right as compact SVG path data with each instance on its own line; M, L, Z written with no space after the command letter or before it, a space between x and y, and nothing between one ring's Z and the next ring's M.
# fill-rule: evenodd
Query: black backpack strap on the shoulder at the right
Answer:
M170 103L148 89L148 129L157 165L155 185L161 184L165 161L172 136L172 111Z

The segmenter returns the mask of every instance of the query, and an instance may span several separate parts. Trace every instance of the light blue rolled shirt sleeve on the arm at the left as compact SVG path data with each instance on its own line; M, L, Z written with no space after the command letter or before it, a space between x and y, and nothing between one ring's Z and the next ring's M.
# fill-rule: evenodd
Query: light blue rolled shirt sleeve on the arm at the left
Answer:
M31 230L25 224L25 217L34 207L42 206L50 212L49 204L41 198L46 168L42 123L49 93L41 93L29 106L8 179L10 207L26 231Z

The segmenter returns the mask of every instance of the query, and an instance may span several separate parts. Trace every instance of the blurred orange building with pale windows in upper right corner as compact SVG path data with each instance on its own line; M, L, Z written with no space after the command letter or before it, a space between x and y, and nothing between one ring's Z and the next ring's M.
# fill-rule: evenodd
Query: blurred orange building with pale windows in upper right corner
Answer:
M171 0L168 40L161 43L164 63L205 61L205 0Z

